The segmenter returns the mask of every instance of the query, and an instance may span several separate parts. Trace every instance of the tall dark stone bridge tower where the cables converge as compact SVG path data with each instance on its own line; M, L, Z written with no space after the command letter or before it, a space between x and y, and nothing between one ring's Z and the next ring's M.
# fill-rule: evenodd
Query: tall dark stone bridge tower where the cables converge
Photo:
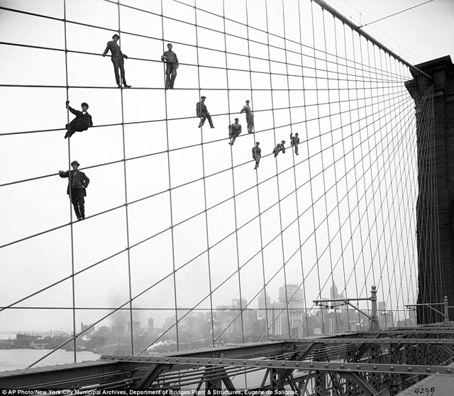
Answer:
M415 101L419 197L418 303L454 306L454 65L450 56L421 63L406 82ZM434 308L443 312L442 305ZM443 321L428 307L416 310L419 324ZM454 309L449 309L454 319Z

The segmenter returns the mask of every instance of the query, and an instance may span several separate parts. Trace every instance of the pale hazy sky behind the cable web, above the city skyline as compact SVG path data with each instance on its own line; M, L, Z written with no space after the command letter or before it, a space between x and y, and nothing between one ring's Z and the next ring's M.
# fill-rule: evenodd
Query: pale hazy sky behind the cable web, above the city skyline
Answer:
M256 308L264 285L274 300L285 282L301 285L307 309L333 282L350 297L366 297L376 283L388 309L414 302L407 68L309 1L285 0L283 11L282 1L250 0L246 9L244 0L224 8L197 0L196 12L192 0L164 0L162 10L155 0L120 3L118 20L109 1L67 0L64 10L60 0L0 0L0 304L52 285L15 304L23 309L1 312L0 331L71 330L73 321L79 329L131 297L150 309L135 319L160 326L176 307L181 316L241 296ZM420 1L329 3L362 24ZM453 7L435 0L365 30L409 62L452 55ZM117 31L130 90L116 88L111 60L101 57ZM168 42L180 66L166 92ZM201 94L214 129L197 128ZM87 101L94 122L70 141L67 99L76 109ZM239 114L245 99L255 134ZM236 116L243 133L231 148ZM301 138L299 156L291 132ZM282 140L287 153L275 159ZM87 219L72 226L67 180L57 175L71 160L91 180ZM83 271L74 285L73 271Z

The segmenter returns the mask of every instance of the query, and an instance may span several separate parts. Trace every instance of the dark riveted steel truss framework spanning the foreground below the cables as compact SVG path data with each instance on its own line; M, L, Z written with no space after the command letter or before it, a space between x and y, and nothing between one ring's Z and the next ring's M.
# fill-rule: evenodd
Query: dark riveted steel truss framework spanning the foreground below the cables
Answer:
M250 390L292 389L336 396L403 390L431 374L454 378L454 324L249 343L165 356L102 356L100 361L0 373L1 389L235 390L233 378L262 370ZM370 387L365 385L367 383Z

